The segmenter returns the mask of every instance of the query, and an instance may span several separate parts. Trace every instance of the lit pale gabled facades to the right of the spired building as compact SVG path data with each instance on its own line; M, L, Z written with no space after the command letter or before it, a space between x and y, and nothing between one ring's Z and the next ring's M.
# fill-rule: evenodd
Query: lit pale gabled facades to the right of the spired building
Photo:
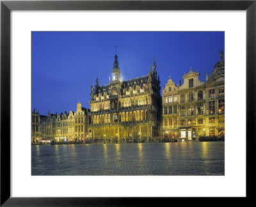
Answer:
M189 141L200 136L225 134L225 61L220 61L206 82L193 72L182 77L182 86L169 79L163 89L163 138Z

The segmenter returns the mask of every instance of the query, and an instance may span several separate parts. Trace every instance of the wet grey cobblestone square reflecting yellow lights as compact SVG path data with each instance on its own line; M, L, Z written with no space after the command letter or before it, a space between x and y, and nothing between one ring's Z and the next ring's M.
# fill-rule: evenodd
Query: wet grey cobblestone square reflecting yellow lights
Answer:
M32 146L32 175L224 175L224 143Z

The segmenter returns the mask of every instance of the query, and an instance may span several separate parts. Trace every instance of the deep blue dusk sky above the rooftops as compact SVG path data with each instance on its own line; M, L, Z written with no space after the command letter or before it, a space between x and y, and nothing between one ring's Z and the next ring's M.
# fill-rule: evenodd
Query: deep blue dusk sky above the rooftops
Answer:
M224 32L33 32L32 108L40 114L90 108L90 86L108 84L115 46L121 77L147 75L156 58L161 88L198 69L200 81L220 60ZM224 51L225 54L225 51Z

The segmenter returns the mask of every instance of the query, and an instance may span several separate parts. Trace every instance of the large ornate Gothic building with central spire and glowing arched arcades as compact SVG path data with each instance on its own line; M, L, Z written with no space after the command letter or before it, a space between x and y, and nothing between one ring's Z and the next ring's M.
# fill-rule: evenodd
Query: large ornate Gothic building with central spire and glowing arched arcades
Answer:
M93 142L158 141L161 127L160 81L156 61L148 75L120 80L118 56L112 80L106 86L91 87L88 139Z

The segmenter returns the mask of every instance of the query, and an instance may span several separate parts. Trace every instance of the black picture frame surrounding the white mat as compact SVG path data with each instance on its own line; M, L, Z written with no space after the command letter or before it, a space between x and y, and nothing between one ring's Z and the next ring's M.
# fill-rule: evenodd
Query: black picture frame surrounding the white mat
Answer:
M255 0L1 1L1 206L151 206L153 201L159 204L170 201L170 197L10 197L10 12L12 10L246 10L246 198L253 197L254 190L250 189L254 187L255 175L254 171L250 171L250 166L255 163L253 158L256 145ZM243 112L244 109L241 111ZM198 199L193 201L198 202ZM215 202L211 199L211 203Z

